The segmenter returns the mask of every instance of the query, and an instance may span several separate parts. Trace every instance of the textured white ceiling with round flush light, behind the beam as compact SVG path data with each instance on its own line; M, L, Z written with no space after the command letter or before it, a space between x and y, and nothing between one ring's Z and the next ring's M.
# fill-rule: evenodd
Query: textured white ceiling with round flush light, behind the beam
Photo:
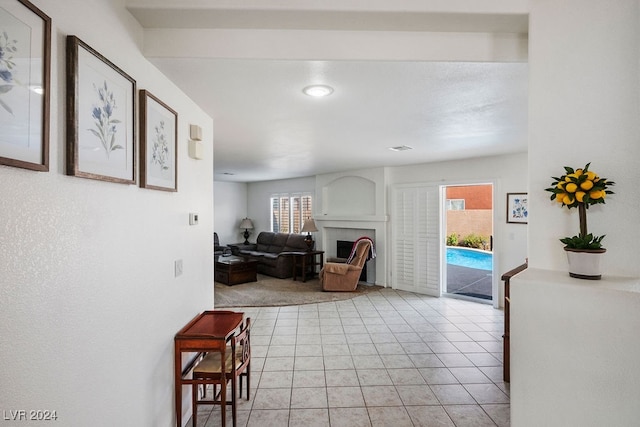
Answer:
M217 180L290 178L527 146L526 64L153 62L213 117ZM334 93L308 97L302 88L309 84L328 84ZM413 150L388 149L399 145Z

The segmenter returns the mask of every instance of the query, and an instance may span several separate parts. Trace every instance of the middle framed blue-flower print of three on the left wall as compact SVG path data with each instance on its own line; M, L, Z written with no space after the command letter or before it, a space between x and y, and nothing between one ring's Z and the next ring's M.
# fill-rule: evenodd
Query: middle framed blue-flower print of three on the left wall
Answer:
M136 183L136 81L67 36L67 174Z

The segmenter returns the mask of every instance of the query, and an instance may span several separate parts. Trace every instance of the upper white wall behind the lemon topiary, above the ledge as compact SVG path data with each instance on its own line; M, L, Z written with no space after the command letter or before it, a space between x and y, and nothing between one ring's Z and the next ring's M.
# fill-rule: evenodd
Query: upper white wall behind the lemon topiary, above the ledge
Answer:
M588 211L606 234L604 274L640 275L636 183L640 159L638 0L532 1L529 28L530 266L567 269L559 238L578 233L578 213L545 192L563 166L614 180L616 194Z

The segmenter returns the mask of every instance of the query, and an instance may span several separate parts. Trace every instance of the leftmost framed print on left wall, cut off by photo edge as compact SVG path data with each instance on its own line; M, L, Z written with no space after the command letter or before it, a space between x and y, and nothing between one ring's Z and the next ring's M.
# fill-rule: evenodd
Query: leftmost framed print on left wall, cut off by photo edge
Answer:
M49 170L51 18L0 0L0 164Z

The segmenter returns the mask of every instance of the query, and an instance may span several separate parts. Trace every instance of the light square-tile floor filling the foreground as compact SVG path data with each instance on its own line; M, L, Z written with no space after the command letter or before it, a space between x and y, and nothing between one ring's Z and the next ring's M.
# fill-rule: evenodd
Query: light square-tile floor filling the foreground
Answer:
M253 324L251 399L239 403L240 426L510 423L504 315L490 305L383 289L234 310ZM230 407L227 414L232 425ZM202 406L198 426L219 425L220 409Z

